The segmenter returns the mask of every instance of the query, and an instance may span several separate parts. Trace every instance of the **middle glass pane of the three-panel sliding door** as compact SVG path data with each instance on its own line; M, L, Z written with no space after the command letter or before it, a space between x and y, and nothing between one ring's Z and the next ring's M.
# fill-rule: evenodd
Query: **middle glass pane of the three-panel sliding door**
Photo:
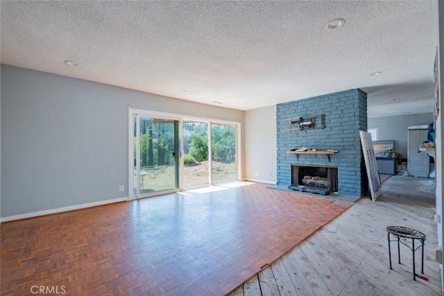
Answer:
M208 169L208 123L184 121L184 187L210 184Z

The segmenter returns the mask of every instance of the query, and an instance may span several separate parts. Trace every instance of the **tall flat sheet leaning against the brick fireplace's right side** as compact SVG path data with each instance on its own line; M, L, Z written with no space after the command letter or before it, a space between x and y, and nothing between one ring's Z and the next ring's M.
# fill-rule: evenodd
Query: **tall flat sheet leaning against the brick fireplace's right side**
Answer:
M372 200L376 200L379 195L382 194L381 180L379 179L379 173L377 171L375 151L373 150L372 137L368 132L363 130L359 131L361 137L362 152L364 153L364 161L366 162L366 171L368 177L368 188Z

